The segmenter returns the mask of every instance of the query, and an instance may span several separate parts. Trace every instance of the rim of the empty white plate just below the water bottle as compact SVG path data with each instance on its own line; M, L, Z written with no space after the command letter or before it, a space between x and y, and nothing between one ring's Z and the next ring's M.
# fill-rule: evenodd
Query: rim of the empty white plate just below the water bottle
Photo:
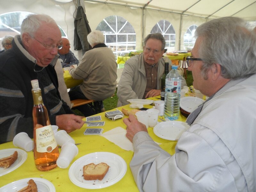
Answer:
M172 141L179 140L179 138L177 138L177 136L175 138L174 137L166 137L166 136L163 136L158 133L158 129L160 129L162 126L167 126L170 124L176 124L176 125L179 124L179 125L184 126L184 128L182 129L182 133L189 128L189 125L183 121L165 121L165 122L160 122L159 124L156 124L156 126L153 128L153 132L156 134L156 136L158 136L162 139L172 140Z

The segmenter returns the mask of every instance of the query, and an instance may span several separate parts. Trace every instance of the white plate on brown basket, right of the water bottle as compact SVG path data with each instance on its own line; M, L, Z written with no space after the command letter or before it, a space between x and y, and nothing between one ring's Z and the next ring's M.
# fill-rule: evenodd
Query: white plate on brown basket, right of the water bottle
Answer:
M204 100L197 97L182 97L180 99L180 108L191 113L203 102Z

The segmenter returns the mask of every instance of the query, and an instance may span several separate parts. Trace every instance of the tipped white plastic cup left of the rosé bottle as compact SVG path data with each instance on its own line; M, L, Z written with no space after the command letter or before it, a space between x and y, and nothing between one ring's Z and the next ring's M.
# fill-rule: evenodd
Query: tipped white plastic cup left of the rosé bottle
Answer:
M12 141L15 147L24 149L25 151L32 151L34 148L34 142L28 137L28 134L25 132L20 132L13 138Z

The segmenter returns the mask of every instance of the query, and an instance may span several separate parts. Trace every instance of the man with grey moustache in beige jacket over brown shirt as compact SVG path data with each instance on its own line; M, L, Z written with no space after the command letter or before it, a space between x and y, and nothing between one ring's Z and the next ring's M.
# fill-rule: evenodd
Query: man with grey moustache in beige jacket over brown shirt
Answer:
M127 105L128 99L145 99L160 95L161 77L164 74L165 39L161 33L149 34L144 39L143 53L135 55L124 64L117 96L117 107ZM172 61L168 59L169 66ZM181 87L187 85L182 77Z

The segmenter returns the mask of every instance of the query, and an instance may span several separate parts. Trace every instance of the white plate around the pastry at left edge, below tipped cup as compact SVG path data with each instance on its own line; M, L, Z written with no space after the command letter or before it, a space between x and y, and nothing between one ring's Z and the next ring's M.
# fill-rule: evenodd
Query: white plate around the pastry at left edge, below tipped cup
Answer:
M26 159L28 157L27 152L22 149L17 149L17 148L0 150L0 159L12 155L14 153L14 151L18 152L17 160L10 167L8 167L6 169L4 169L3 167L0 167L0 176L14 171L15 169L20 167L20 165L22 165L26 161Z

